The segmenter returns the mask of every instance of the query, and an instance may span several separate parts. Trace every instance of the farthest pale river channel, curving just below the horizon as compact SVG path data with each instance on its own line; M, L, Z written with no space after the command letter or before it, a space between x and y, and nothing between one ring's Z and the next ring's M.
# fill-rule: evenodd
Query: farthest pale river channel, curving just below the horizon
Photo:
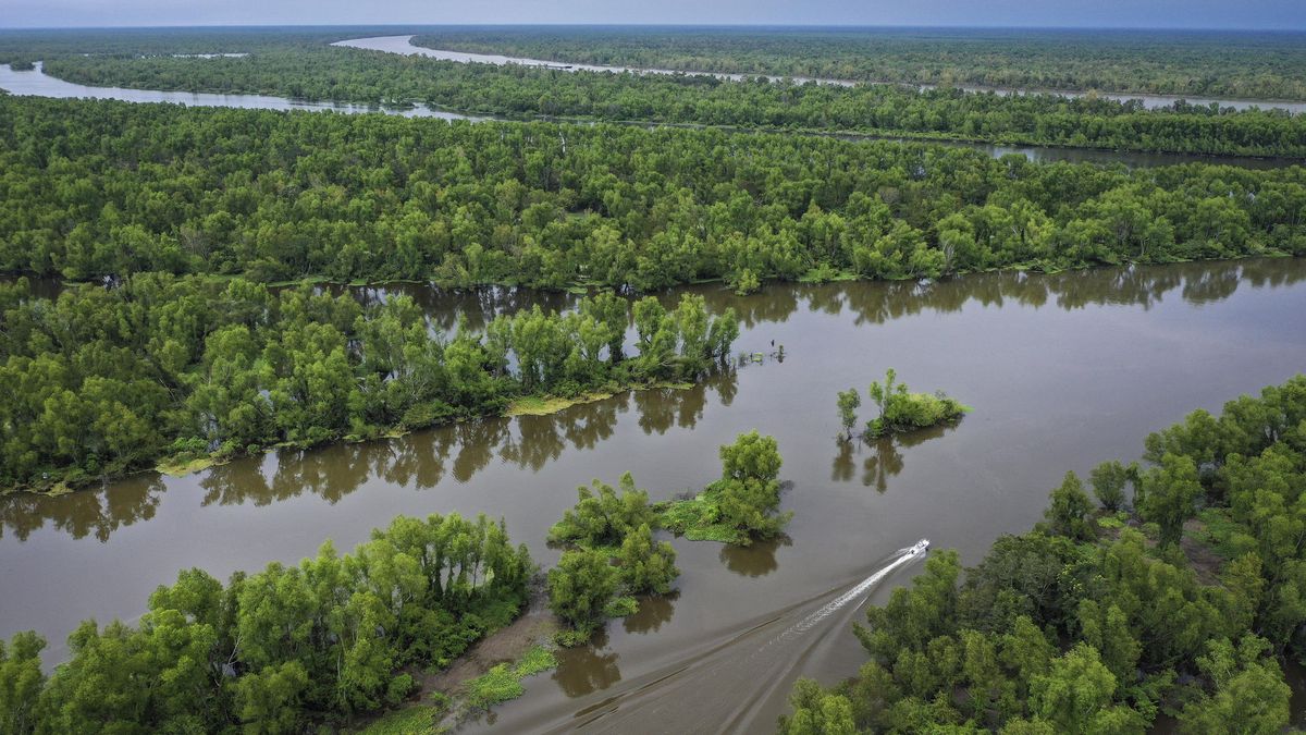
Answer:
M640 67L602 67L596 64L575 64L571 61L547 61L542 59L528 59L521 56L500 56L499 54L471 54L466 51L444 51L439 48L427 48L424 46L414 46L413 39L415 35L376 35L371 38L353 38L349 41L337 41L332 46L345 46L349 48L366 48L370 51L385 51L389 54L405 54L405 55L419 55L430 56L432 59L441 59L445 61L461 61L461 63L478 63L478 64L517 64L521 67L539 67L547 69L559 69L564 72L611 72L611 73L633 73L633 75L687 75L687 76L709 76L721 80L730 81L743 81L748 78L764 78L769 81L791 80L798 84L803 82L816 82L816 84L829 84L837 86L857 86L858 84L896 84L896 82L861 82L849 80L836 80L836 78L821 78L821 77L777 77L771 75L738 75L738 73L724 73L724 72L684 72L673 69L656 69L656 68L640 68ZM906 85L916 89L935 89L936 85ZM959 89L965 92L986 93L993 92L996 94L1057 94L1060 97L1081 97L1081 92L1070 92L1060 89L1017 89L1017 88L1004 88L1004 86L982 86L982 85L957 85ZM1306 102L1280 102L1271 99L1229 99L1220 97L1185 97L1178 94L1117 94L1109 92L1094 92L1094 95L1104 99L1114 99L1117 102L1128 102L1131 99L1138 99L1143 103L1144 109L1157 110L1161 107L1170 107L1175 102L1183 101L1188 105L1205 107L1211 105L1217 105L1220 107L1233 107L1234 110L1251 110L1252 107L1259 107L1263 110L1286 110L1289 112L1306 112Z

